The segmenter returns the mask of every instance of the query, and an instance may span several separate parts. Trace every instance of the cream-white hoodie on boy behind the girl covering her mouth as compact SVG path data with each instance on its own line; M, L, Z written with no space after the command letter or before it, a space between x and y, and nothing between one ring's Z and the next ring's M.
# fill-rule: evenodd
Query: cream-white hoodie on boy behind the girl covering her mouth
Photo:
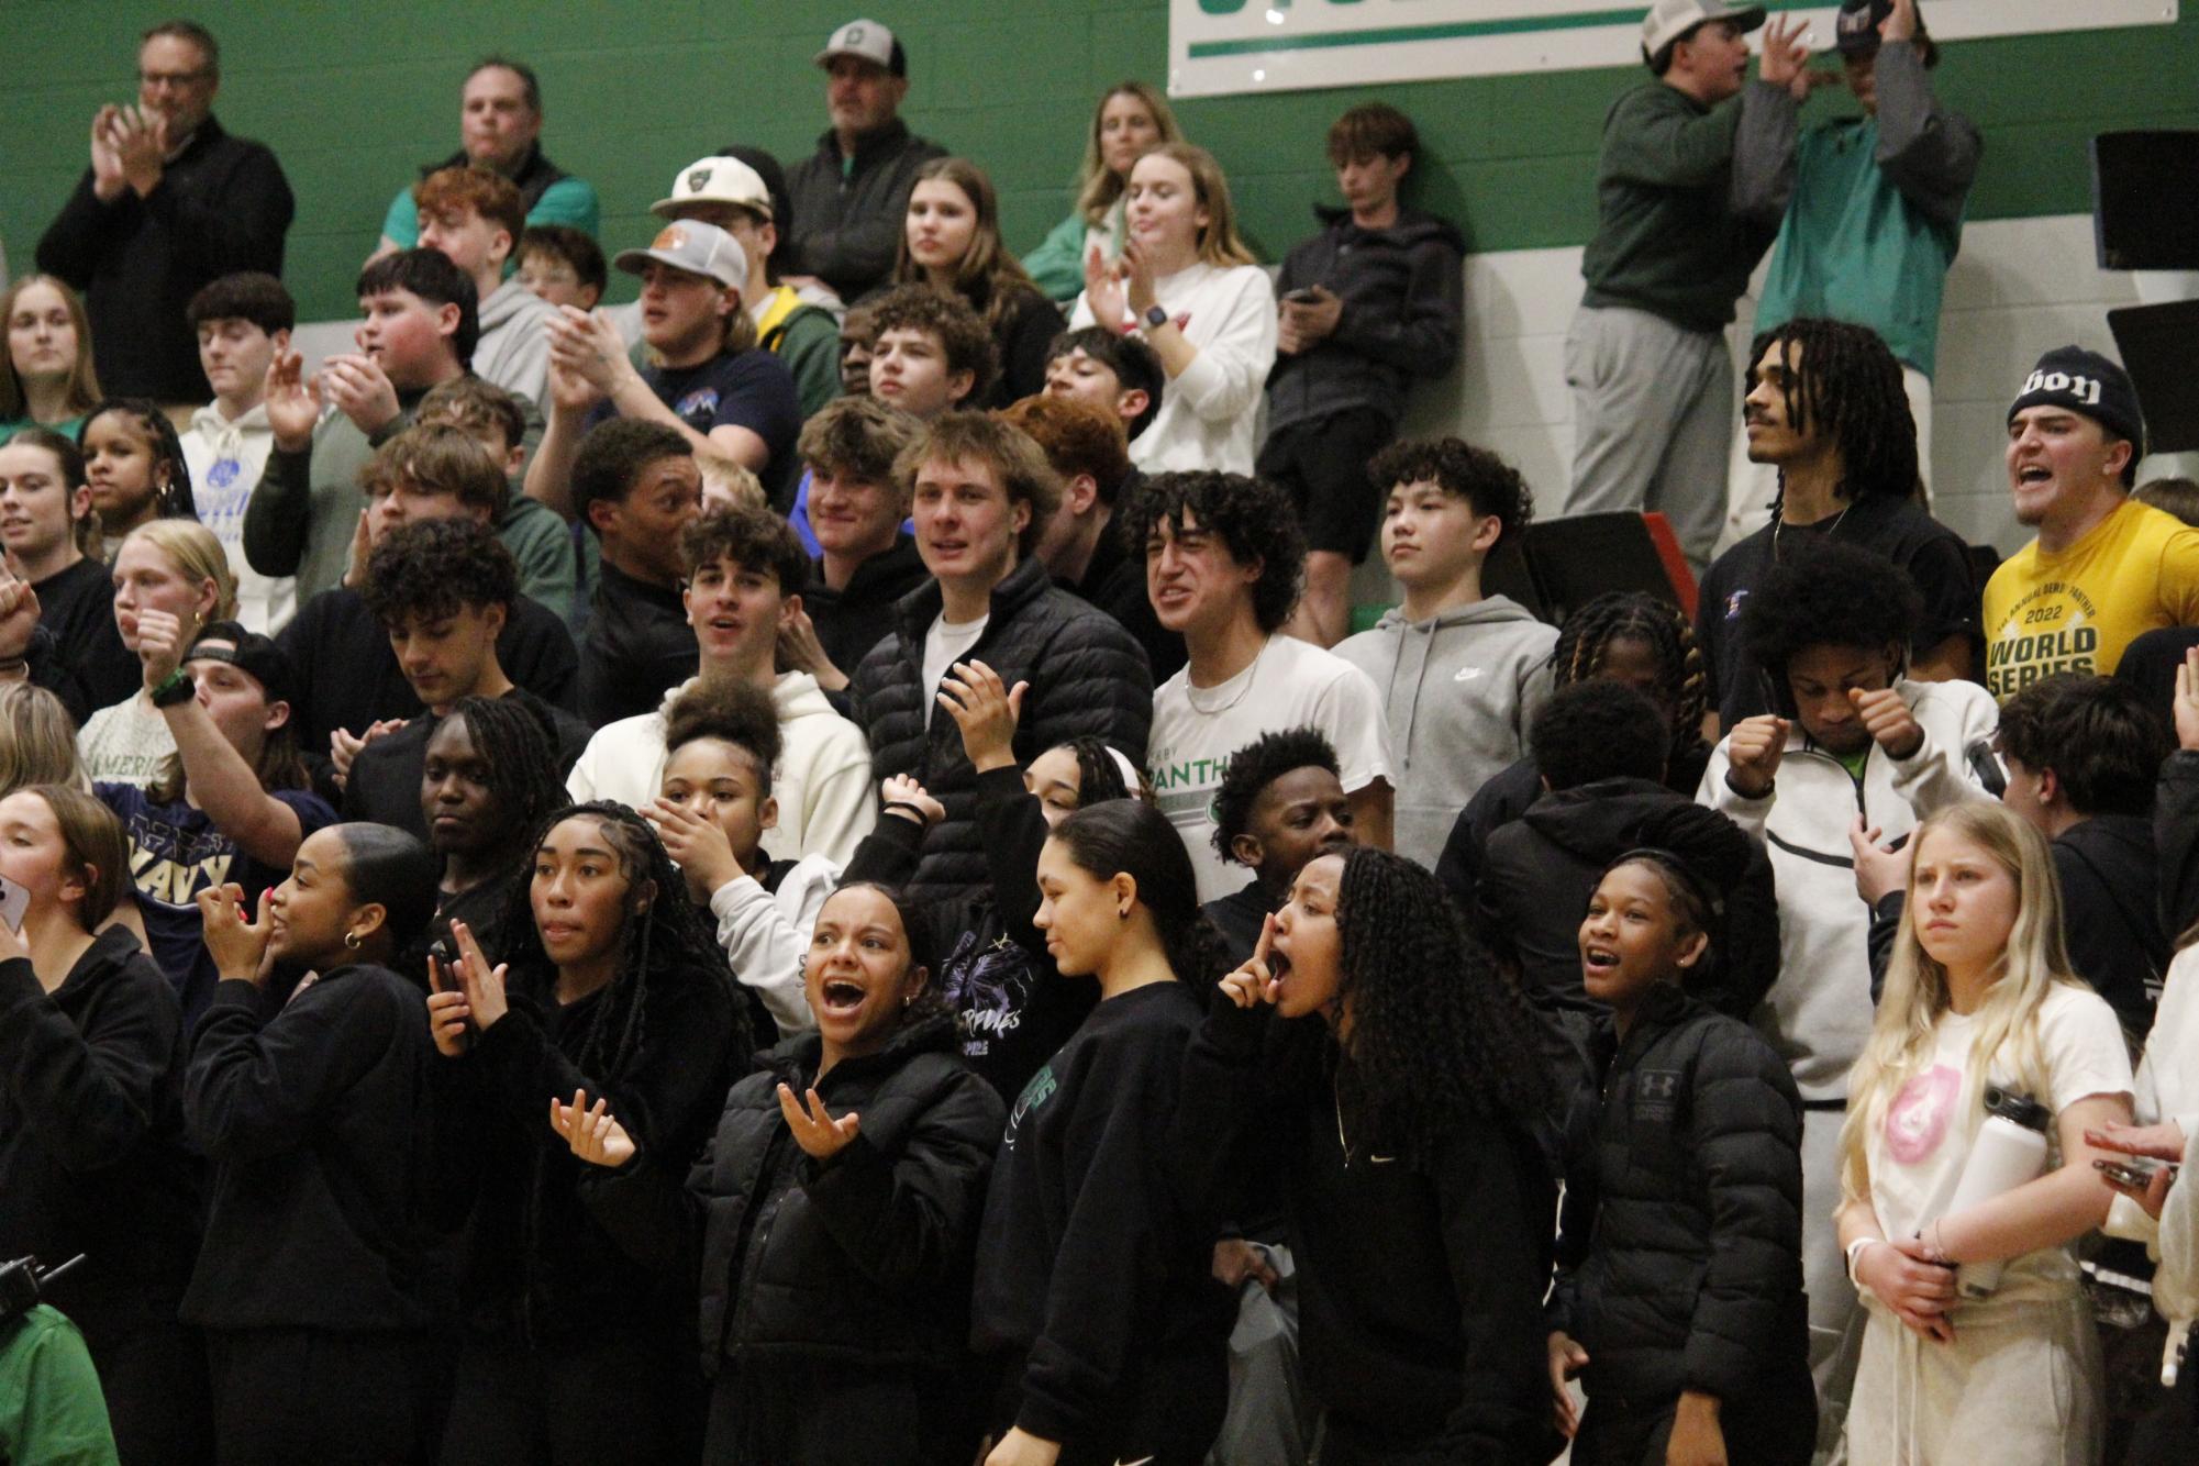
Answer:
M664 785L664 712L695 681L666 692L655 712L598 728L572 765L565 791L576 800L647 809ZM778 824L763 831L763 853L772 859L825 855L847 864L877 820L871 745L860 728L831 710L809 673L781 673L772 684L772 703L781 736L778 767L772 769Z

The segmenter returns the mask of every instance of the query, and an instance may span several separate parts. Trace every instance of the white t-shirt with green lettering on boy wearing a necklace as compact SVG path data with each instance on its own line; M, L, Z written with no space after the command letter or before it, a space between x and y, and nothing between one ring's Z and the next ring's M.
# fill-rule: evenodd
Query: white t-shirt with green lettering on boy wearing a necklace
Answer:
M1152 695L1146 776L1159 809L1183 835L1198 873L1198 899L1216 901L1251 881L1251 870L1214 853L1214 793L1229 756L1269 732L1315 728L1337 749L1346 793L1390 778L1390 730L1381 692L1344 657L1311 642L1271 635L1242 673L1212 688L1179 670Z

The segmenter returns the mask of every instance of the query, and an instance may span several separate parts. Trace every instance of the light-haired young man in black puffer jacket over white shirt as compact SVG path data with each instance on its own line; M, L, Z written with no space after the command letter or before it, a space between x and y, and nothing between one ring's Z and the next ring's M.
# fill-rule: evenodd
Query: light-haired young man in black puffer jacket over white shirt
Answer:
M1152 673L1130 633L1069 591L1034 558L1060 481L1029 437L985 413L946 413L902 455L917 549L935 580L895 607L895 631L855 670L855 721L871 738L871 774L908 774L946 807L908 890L924 901L987 879L972 811L976 771L939 684L983 662L1018 703L1016 760L1084 734L1135 758L1152 723Z

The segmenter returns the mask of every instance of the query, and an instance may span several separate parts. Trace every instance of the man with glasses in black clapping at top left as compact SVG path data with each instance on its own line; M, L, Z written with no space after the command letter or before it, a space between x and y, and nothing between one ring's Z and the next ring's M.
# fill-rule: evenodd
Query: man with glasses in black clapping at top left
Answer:
M145 31L136 105L92 116L92 165L37 242L37 268L86 295L114 396L205 402L187 306L235 270L281 277L295 204L275 154L222 132L222 51L189 20Z

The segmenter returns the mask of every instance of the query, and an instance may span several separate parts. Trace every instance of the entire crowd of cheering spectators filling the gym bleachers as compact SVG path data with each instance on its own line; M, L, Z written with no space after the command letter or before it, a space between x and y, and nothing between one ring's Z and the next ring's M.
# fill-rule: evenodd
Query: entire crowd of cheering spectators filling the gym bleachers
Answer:
M1557 624L1522 475L1396 442L1462 242L1390 105L1271 279L1117 86L1018 264L858 20L607 262L493 57L308 374L145 33L4 299L0 1262L81 1262L0 1455L2190 1459L2199 490L2052 349L1979 582L1871 314L1937 277L1843 273L1944 275L1975 130L1849 0L1797 143L1761 22L1645 20L1572 506L1739 407L1770 521Z

